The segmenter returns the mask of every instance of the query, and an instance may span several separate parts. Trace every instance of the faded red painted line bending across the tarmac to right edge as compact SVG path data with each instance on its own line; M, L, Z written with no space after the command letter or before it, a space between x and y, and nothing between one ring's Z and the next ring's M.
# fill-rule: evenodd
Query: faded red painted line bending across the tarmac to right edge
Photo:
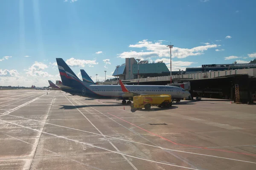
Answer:
M119 118L118 116L115 116L115 115L113 115L113 114L111 114L111 113L108 113L108 114L110 114L111 116L114 116L114 117L116 117L117 119L120 119L120 120L122 120L122 121L124 121L124 122L127 122L127 123L129 123L129 124L131 124L131 125L134 125L134 124L132 124L131 122L128 122L128 121L126 121L126 120L124 120L124 119L122 119L122 118ZM162 138L162 139L164 139L164 140L166 140L166 141L168 141L168 142L171 142L171 143L177 144L177 145L182 145L182 146L187 146L187 147L195 147L195 148L198 148L198 149L216 150L216 151L227 152L227 153L238 153L238 154L242 154L242 155L256 156L255 154L249 154L249 153L241 153L241 152L234 152L234 151L228 151L228 150L212 149L212 148L207 148L207 147L197 147L197 146L192 146L192 145L187 145L187 144L179 144L179 143L173 142L173 141L171 141L171 140L169 140L169 139L166 139L166 138L163 137L163 136L160 136L160 135L157 135L157 134L155 134L155 133L152 133L152 132L150 132L150 131L148 131L148 130L145 130L145 129L143 129L142 127L139 127L139 126L137 126L137 125L134 125L134 126L140 128L141 130L144 130L144 131L146 131L146 132L148 132L148 133L150 133L150 134L152 134L152 135L154 135L154 136L158 136L158 137L160 137L160 138Z

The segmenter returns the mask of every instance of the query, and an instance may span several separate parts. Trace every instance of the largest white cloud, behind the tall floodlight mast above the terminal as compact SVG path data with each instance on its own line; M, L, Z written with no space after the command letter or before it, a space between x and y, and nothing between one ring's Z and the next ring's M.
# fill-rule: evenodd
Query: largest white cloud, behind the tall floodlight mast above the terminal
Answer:
M208 50L209 48L216 48L218 45L203 45L194 48L172 48L172 57L177 58L186 58L188 56L197 56L204 54L204 51ZM145 48L145 52L137 52L137 51L125 51L121 54L118 54L120 58L149 58L149 57L169 57L170 56L170 49L166 47L166 45L162 45L162 42L150 42L148 40L143 40L137 42L135 45L129 45L131 48Z

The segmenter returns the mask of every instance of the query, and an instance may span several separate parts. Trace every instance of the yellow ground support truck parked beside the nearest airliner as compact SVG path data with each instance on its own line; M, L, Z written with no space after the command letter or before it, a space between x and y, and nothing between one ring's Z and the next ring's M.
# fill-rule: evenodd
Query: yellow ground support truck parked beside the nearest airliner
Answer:
M132 109L142 109L145 108L149 110L151 106L161 107L171 107L172 106L172 96L169 94L161 95L140 95L133 97Z

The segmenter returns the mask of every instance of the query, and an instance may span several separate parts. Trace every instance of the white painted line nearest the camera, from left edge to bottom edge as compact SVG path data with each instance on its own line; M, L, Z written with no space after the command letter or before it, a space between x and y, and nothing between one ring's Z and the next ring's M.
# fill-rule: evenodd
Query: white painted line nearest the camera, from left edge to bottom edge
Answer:
M78 142L78 143L81 143L81 144L86 144L86 145L91 146L91 147L97 147L99 149L107 150L107 151L112 152L112 153L117 153L117 154L120 154L120 155L124 155L124 156L128 156L128 157L131 157L131 158L135 158L135 159L141 159L141 160L144 160L144 161L154 162L154 163L158 163L158 164L165 164L165 165L169 165L169 166L173 166L173 167L182 167L182 168L190 169L190 170L199 170L199 169L195 169L195 168L183 167L183 166L179 166L179 165L168 164L168 163L153 161L153 160L149 160L149 159L144 159L144 158L140 158L140 157L137 157L137 156L131 156L131 155L127 155L127 154L124 154L124 153L119 153L119 152L116 152L116 151L113 151L113 150L109 150L109 149L106 149L106 148L103 148L103 147L95 146L93 144L89 144L89 143L85 143L85 142L80 142L80 141L77 141L77 140L74 140L74 139L69 139L69 138L66 138L64 136L58 136L58 135L55 135L55 134L52 134L52 133L43 132L41 130L32 129L30 127L26 127L26 126L23 126L23 125L18 125L16 123L8 122L8 121L5 121L5 120L1 120L0 119L0 121L6 122L6 123L10 123L12 125L17 125L17 126L20 126L20 127L24 127L26 129L34 130L34 131L37 131L37 132L40 132L40 133L45 133L45 134L48 134L48 135L56 136L58 138L67 139L67 140L70 140L70 141L73 141L73 142Z

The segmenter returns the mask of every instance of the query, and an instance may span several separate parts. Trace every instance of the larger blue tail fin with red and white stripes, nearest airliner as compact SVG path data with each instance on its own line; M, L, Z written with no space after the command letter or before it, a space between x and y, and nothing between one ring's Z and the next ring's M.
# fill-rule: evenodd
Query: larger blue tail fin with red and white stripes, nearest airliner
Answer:
M63 85L78 89L84 87L83 82L76 76L62 58L56 58L56 61Z

